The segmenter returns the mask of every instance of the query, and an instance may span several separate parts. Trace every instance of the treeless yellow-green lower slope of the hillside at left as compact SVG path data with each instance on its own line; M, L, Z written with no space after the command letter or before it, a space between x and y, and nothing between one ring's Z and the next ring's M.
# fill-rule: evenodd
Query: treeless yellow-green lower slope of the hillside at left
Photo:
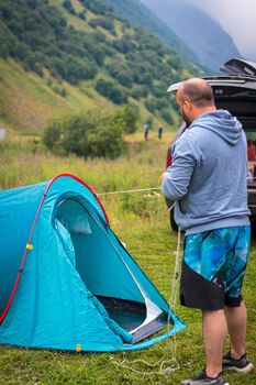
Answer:
M42 129L46 122L67 111L105 107L102 98L94 99L66 81L42 78L26 72L13 59L0 59L0 127L7 129ZM51 81L49 81L51 80ZM62 96L62 90L67 92ZM26 130L27 131L27 130Z

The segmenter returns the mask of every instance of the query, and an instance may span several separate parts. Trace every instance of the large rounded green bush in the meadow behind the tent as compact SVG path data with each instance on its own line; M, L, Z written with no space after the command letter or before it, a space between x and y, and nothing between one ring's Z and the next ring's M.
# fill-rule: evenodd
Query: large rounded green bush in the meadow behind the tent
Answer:
M134 132L136 121L137 114L129 107L115 111L96 109L51 122L43 140L58 154L114 158L123 152L123 133Z

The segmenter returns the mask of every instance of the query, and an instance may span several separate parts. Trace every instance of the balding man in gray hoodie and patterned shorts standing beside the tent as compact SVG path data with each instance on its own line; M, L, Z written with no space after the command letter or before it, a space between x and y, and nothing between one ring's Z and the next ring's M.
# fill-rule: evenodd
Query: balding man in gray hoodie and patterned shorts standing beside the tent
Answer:
M182 82L177 102L188 129L174 144L163 193L176 201L175 220L186 230L180 301L202 310L205 352L204 370L181 384L229 385L223 370L254 367L241 293L251 241L246 138L236 118L216 110L203 79ZM227 331L231 350L223 356Z

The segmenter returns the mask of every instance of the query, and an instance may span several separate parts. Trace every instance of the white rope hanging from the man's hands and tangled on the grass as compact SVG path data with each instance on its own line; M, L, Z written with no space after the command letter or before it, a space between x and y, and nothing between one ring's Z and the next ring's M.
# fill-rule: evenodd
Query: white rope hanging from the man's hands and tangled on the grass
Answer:
M171 211L175 207L175 204L169 208L169 211ZM177 241L177 251L176 251L176 260L175 260L175 271L174 271L174 277L172 277L172 283L171 283L171 288L170 288L170 297L168 299L168 305L169 305L169 312L167 317L167 332L169 332L170 329L170 311L171 309L175 309L176 307L176 300L177 300L177 292L178 292L178 278L179 278L179 258L180 258L180 242L181 242L181 230L180 227L178 229L178 241ZM167 351L168 349L168 351ZM171 358L166 360L167 353L171 353ZM131 365L126 365L126 358L125 358L125 352L123 352L123 360L120 362L114 359L114 356L110 356L110 362L113 363L116 366L120 366L122 369L126 369L130 372L134 372L137 374L142 375L167 375L170 373L174 373L175 371L178 371L180 369L180 365L177 361L177 343L176 343L176 336L172 336L171 339L168 339L166 345L165 345L165 351L163 354L163 358L157 361L156 363L148 363L145 360L134 360L133 364L140 363L143 364L147 367L156 367L158 365L159 369L158 371L149 371L145 372L138 369L134 369ZM166 365L166 367L165 367ZM167 366L168 365L168 366Z

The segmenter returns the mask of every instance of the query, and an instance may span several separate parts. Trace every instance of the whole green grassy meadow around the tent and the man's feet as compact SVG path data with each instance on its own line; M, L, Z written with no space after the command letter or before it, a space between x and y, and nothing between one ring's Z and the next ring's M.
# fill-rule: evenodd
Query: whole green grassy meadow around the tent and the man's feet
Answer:
M159 187L171 136L170 132L164 132L163 139L158 140L153 131L145 142L143 132L130 135L126 154L115 161L57 157L43 147L40 138L12 138L0 142L0 189L47 180L60 173L77 175L98 194ZM169 229L160 190L101 195L100 199L113 231L168 299L177 233ZM255 258L256 242L253 240L244 298L248 308L247 353L256 364ZM187 323L187 329L176 338L137 352L70 354L2 345L0 384L179 384L180 380L203 367L203 351L200 311L177 304L176 312ZM163 370L174 366L175 371L163 374L162 364ZM232 385L256 384L255 372L243 376L227 373L225 378Z

